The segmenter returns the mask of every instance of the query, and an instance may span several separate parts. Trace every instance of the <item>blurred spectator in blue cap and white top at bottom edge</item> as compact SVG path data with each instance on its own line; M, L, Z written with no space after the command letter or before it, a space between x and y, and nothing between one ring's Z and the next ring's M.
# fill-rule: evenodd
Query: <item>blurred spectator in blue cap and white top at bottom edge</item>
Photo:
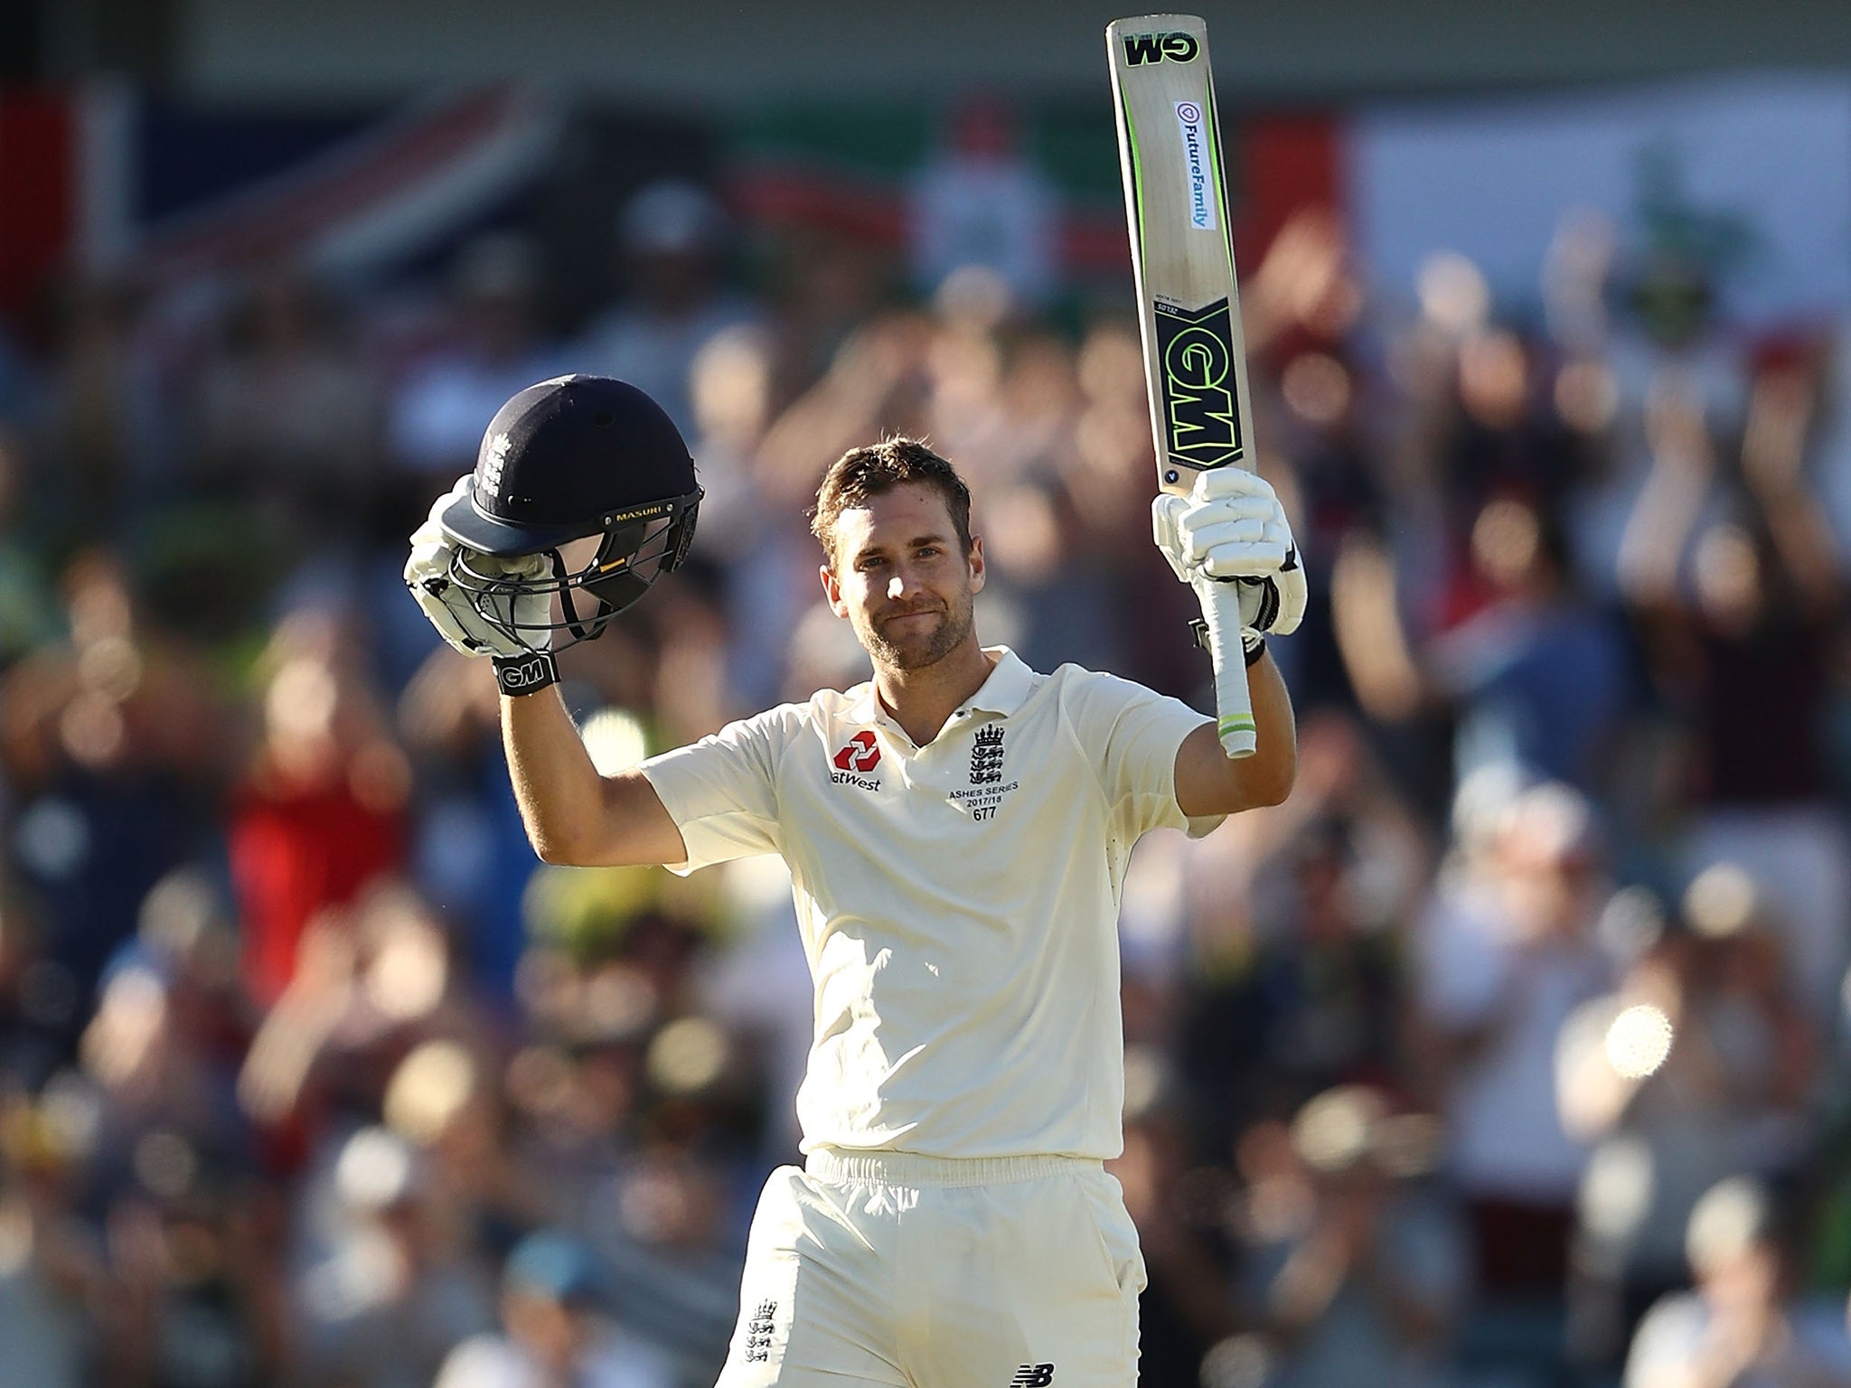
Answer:
M668 1366L602 1314L605 1277L570 1234L526 1238L502 1270L502 1334L444 1360L435 1388L674 1388Z

